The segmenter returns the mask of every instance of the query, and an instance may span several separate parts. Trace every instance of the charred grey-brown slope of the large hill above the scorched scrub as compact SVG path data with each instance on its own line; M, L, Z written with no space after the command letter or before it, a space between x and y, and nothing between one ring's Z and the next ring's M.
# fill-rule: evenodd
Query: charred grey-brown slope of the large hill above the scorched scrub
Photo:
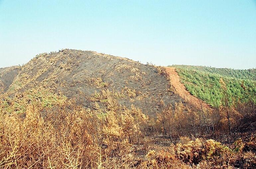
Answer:
M106 107L111 95L119 104L134 104L150 116L160 111L160 99L173 105L183 101L157 67L93 51L65 49L37 55L22 67L5 94L12 97L33 88L64 94L91 109L95 102Z

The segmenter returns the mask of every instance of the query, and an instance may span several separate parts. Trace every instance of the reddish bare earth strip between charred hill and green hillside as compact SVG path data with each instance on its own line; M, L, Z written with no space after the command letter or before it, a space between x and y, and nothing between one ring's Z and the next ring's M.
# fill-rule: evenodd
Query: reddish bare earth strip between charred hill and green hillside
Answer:
M175 71L174 67L165 67L171 84L173 85L175 89L175 93L179 94L186 102L192 103L195 107L200 108L200 102L203 107L210 109L210 106L206 104L203 101L200 101L197 97L193 96L187 89L186 87L181 83L180 77L178 73Z

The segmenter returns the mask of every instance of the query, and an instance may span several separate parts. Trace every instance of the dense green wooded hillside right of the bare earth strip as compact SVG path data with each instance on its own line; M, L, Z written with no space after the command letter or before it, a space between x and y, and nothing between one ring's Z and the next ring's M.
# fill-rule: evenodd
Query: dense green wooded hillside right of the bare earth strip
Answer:
M233 70L203 66L174 65L188 91L208 104L218 107L221 104L222 92L219 83L222 78L226 83L230 100L248 102L256 101L255 69ZM242 86L243 84L243 86Z

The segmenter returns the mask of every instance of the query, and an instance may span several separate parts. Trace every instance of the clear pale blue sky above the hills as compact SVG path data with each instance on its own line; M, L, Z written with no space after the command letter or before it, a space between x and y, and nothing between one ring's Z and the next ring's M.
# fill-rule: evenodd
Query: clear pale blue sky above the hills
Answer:
M0 67L62 48L156 65L256 67L255 0L0 0Z

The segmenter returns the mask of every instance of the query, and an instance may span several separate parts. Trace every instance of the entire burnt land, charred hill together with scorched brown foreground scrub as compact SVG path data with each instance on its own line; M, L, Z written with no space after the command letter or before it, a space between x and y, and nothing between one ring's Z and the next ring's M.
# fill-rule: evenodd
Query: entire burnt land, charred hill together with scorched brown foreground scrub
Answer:
M104 58L111 69L92 71ZM37 56L0 95L0 168L256 168L253 109L196 107L168 80L94 52Z

